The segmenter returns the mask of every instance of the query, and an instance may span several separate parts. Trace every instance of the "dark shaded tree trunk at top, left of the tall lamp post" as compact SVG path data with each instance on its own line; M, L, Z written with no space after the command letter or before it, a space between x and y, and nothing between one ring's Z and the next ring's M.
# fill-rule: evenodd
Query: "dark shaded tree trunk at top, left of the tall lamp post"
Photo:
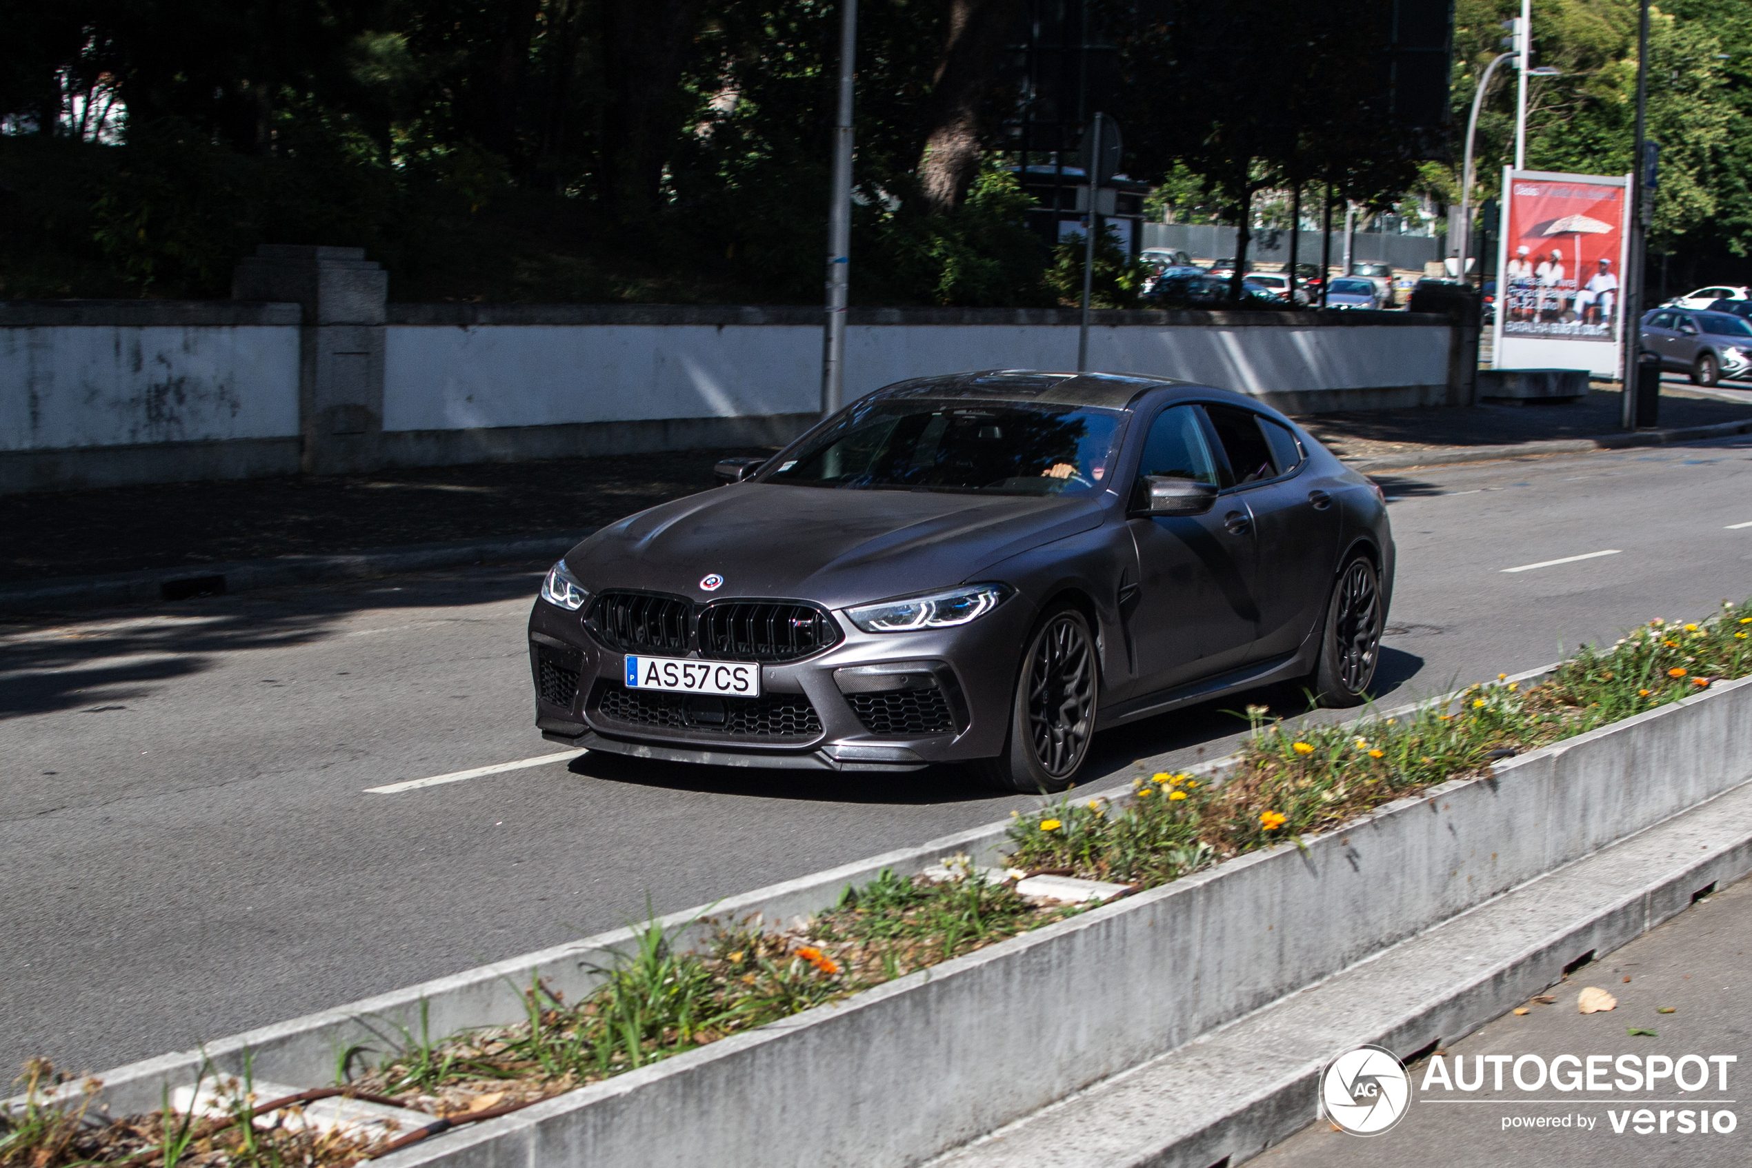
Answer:
M687 116L682 70L699 30L701 0L606 0L603 63L603 193L622 222L657 210L671 135Z

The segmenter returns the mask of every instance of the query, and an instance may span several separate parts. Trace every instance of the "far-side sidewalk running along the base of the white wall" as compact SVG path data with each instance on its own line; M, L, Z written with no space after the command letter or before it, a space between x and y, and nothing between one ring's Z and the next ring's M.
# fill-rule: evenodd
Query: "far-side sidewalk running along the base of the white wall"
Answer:
M1340 457L1372 469L1544 454L1500 450L1517 443L1612 440L1621 434L1617 419L1619 396L1591 392L1568 406L1381 410L1300 420ZM1663 427L1719 424L1752 426L1752 403L1706 398L1689 387L1663 389ZM1573 441L1570 447L1579 448ZM445 550L429 545L454 545L450 550L466 552L466 560L454 562L473 562L492 557L491 545L578 538L632 511L706 490L713 462L757 454L767 452L680 450L0 496L0 592L121 573L198 576L205 566L263 560L300 560L300 578L315 580L333 574L317 562L322 557L391 548L403 555L380 557L378 567L356 562L347 571L413 571L436 564L434 555L442 559ZM417 567L406 555L410 548L422 553ZM527 548L505 548L506 555L513 552L529 555ZM238 580L230 583L231 590L238 587ZM42 599L49 606L61 602ZM16 611L12 604L0 611L7 608Z

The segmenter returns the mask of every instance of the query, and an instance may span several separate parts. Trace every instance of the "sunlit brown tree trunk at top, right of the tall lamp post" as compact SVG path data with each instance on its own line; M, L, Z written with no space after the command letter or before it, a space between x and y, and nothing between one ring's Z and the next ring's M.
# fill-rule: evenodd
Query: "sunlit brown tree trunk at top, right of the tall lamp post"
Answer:
M979 173L981 107L997 79L1000 49L1021 0L948 0L950 19L925 107L918 180L925 210L946 215Z

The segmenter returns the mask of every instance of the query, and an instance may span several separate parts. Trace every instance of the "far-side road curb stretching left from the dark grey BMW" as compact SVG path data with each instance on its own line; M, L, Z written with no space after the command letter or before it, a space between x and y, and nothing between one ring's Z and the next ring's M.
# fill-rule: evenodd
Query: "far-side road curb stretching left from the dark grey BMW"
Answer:
M263 560L201 564L200 567L154 567L114 576L11 583L0 585L0 615L186 601L196 595L230 595L286 585L368 580L484 560L559 557L590 531L538 539L459 539L347 555L280 555Z

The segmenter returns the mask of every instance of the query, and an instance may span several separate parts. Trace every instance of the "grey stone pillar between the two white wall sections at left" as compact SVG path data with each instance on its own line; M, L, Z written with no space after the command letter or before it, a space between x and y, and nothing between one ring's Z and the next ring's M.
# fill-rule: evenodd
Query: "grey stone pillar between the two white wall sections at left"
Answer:
M238 263L231 298L303 306L300 469L349 475L382 466L389 273L363 247L263 243Z

